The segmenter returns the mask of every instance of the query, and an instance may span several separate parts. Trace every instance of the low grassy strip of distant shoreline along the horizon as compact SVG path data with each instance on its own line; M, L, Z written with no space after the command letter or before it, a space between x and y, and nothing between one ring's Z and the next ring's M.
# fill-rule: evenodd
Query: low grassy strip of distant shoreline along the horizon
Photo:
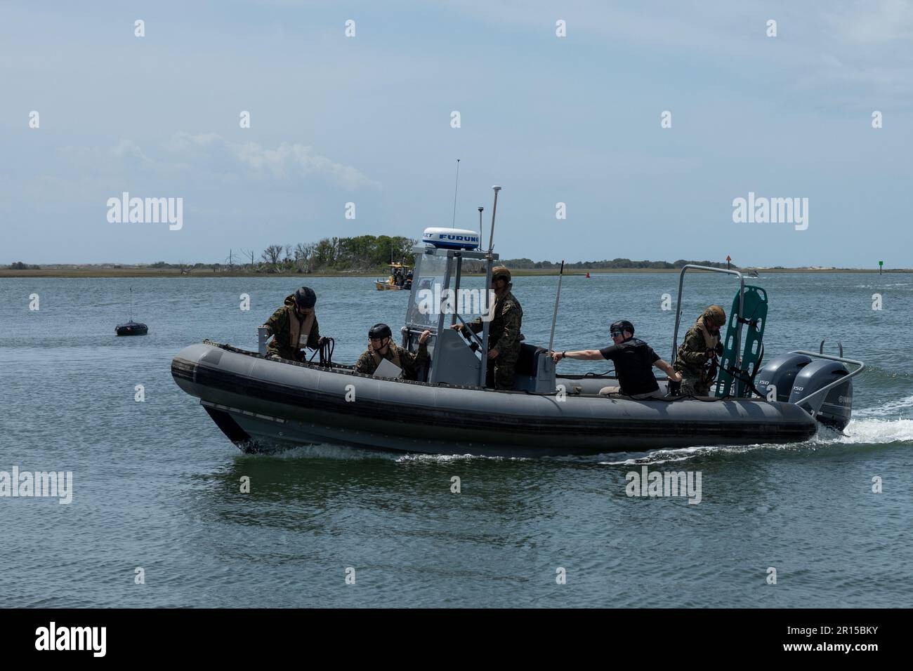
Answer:
M742 272L757 271L759 274L770 273L875 273L877 268L766 268L744 267L736 268ZM574 268L566 270L565 275L592 275L616 273L679 273L680 268ZM913 273L911 268L885 268L884 273ZM557 268L541 269L516 269L511 270L516 277L556 276ZM256 273L249 271L213 272L206 268L197 268L183 274L178 268L149 268L149 267L69 267L69 268L40 268L31 270L11 270L0 268L0 278L381 278L383 273L378 272L320 272L320 273ZM477 274L464 273L470 277Z

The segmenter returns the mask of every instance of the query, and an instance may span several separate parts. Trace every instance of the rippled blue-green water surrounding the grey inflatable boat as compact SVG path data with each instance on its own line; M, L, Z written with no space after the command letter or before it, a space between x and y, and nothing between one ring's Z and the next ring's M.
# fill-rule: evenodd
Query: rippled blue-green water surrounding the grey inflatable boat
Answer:
M548 343L556 281L515 283L527 341ZM74 478L70 505L0 498L0 607L913 606L913 277L752 281L770 294L769 355L826 338L869 366L845 436L542 460L245 456L170 362L204 338L256 349L257 325L297 280L0 279L0 470ZM367 278L308 284L338 361L354 362L375 321L402 323L404 293ZM150 333L118 339L130 286ZM686 326L735 291L707 276L687 287ZM676 288L670 274L565 278L556 349L604 346L624 318L667 358L675 313L661 301ZM702 501L628 498L624 475L641 464L700 471Z

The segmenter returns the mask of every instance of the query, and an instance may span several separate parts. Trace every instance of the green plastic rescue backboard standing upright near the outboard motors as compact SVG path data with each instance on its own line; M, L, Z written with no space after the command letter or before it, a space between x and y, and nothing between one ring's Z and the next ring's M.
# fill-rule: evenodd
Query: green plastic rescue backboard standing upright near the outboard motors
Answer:
M740 339L742 344L741 370L743 375L750 378L758 370L761 360L761 340L764 337L764 325L767 323L767 292L761 287L745 287L745 300L743 314L749 321L748 329ZM723 355L720 357L719 373L717 374L717 396L751 395L747 383L735 380L729 373L729 368L737 367L736 333L740 332L742 323L739 320L739 292L732 300L732 309L729 310L729 327L726 329L726 339L723 341Z

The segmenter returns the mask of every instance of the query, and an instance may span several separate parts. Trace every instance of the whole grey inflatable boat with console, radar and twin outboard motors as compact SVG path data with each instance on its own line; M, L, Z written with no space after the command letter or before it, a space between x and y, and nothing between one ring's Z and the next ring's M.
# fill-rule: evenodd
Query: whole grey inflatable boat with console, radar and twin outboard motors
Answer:
M497 210L498 187L495 187ZM175 382L200 399L215 424L245 450L332 443L434 454L558 456L629 452L666 447L793 443L812 437L818 425L843 429L850 418L852 380L862 362L795 351L761 366L767 295L746 287L738 270L686 266L678 286L677 350L682 288L687 270L727 273L740 282L723 339L715 396L635 400L602 396L617 384L607 375L557 376L548 348L523 344L517 391L486 388L488 321L481 333L449 327L459 320L452 297L459 291L464 259L481 261L487 285L498 255L478 251L471 231L428 229L415 247L415 278L401 332L402 346L416 351L432 332L429 360L419 381L382 379L331 362L267 358L265 334L258 352L213 341L190 345L172 362ZM559 280L559 294L560 294ZM453 289L454 293L448 291ZM448 298L448 296L450 298ZM428 310L429 297L435 309ZM442 298L443 297L443 298ZM458 305L458 301L457 301ZM423 309L424 306L424 309ZM557 315L558 300L555 304ZM552 336L553 336L552 327ZM857 366L849 372L845 363ZM762 389L759 389L759 385Z

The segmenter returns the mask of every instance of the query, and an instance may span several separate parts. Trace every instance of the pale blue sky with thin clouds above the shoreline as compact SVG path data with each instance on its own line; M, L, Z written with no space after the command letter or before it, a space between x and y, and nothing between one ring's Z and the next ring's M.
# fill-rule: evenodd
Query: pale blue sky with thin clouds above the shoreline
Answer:
M500 184L502 257L913 267L901 0L5 0L0 90L0 264L417 238L459 157L457 225L487 234ZM182 229L109 223L124 191ZM808 198L807 230L733 223L749 192Z

